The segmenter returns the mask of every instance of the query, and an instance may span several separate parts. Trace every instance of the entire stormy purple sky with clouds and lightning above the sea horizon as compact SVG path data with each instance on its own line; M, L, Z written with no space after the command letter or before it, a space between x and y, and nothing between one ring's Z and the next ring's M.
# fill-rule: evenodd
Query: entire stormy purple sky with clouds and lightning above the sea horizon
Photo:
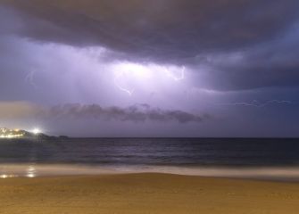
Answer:
M0 127L299 136L298 0L0 0Z

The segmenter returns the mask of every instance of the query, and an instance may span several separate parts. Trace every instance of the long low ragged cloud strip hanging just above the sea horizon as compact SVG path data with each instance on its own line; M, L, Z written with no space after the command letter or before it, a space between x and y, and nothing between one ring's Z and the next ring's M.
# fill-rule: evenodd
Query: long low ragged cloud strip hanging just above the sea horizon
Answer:
M0 103L2 119L104 119L116 121L145 122L176 121L179 123L202 122L208 115L195 115L186 111L162 110L147 104L133 105L128 108L116 106L102 107L98 104L64 104L54 107L42 107L26 102Z

